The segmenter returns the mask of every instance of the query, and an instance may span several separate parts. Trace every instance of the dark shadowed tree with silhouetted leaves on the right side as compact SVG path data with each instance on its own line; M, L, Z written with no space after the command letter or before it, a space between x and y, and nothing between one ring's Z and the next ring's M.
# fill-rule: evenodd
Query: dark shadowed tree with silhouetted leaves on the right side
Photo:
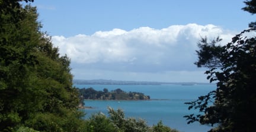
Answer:
M255 14L256 1L245 1L245 11ZM199 109L203 114L184 116L189 123L214 126L210 131L254 131L256 118L256 37L245 35L255 32L255 23L249 24L227 45L217 45L216 38L199 41L196 51L198 67L206 67L210 82L216 82L216 90L192 101L188 109Z

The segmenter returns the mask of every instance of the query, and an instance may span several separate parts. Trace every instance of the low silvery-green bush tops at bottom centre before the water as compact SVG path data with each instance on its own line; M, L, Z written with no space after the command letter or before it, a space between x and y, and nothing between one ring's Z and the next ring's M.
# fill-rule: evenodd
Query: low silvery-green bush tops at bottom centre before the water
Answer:
M164 126L162 121L151 127L140 118L125 117L124 111L121 109L114 110L108 107L108 114L108 117L103 113L93 114L87 120L86 131L178 132L178 130Z

